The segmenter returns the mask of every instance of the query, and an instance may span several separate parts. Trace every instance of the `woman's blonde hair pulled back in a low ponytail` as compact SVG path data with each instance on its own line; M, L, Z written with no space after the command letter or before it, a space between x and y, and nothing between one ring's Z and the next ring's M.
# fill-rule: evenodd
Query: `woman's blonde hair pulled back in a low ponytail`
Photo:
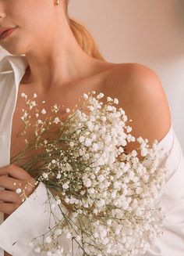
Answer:
M76 38L76 41L83 49L84 52L87 52L89 56L94 57L95 59L105 60L101 53L97 49L97 44L94 41L94 38L91 36L90 32L87 31L87 28L83 26L80 21L70 18L68 13L69 0L63 1L65 16L69 22L69 27L73 31L73 35Z

